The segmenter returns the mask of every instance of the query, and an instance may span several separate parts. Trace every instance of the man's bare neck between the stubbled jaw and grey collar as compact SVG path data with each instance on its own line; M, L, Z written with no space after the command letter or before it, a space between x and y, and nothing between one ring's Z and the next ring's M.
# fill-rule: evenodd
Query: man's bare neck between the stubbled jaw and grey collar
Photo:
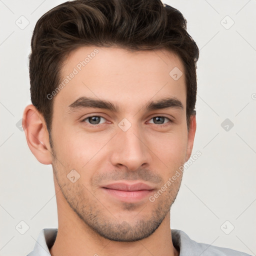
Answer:
M58 216L58 232L50 248L51 256L179 255L171 239L169 212L154 233L134 242L108 240L91 230L75 212L68 218L62 213Z

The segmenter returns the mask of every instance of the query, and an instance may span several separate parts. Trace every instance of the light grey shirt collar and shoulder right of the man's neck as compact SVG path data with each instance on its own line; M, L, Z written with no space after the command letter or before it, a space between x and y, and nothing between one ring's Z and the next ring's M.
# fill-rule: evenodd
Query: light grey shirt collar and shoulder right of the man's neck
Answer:
M196 242L178 229L171 230L172 243L180 250L180 256L251 256L245 252L218 247L207 243Z

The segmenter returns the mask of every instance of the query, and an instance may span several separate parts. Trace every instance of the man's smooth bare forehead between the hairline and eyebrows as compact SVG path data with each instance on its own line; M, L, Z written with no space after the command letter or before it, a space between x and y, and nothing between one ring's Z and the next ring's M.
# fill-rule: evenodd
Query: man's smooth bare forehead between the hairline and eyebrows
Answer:
M70 52L63 62L60 84L54 105L66 107L81 96L105 99L129 109L168 96L185 105L186 98L182 61L166 49L131 52L83 46Z

